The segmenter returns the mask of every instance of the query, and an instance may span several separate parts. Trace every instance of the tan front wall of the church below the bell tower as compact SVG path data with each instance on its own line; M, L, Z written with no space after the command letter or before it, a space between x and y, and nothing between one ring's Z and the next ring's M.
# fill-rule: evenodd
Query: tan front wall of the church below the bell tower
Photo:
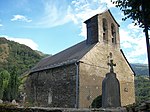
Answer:
M80 107L89 107L93 99L101 95L102 80L109 72L107 63L110 52L116 63L115 73L120 81L121 105L125 106L135 102L134 74L128 63L120 50L99 42L80 60Z

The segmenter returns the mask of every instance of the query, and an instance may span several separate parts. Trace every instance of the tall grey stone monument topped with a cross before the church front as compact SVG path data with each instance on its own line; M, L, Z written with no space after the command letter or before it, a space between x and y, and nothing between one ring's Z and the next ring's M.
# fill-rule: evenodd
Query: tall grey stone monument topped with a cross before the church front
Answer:
M106 74L102 82L102 107L120 107L120 84L113 69L116 64L113 64L113 60L110 60L108 65L110 66L110 72Z

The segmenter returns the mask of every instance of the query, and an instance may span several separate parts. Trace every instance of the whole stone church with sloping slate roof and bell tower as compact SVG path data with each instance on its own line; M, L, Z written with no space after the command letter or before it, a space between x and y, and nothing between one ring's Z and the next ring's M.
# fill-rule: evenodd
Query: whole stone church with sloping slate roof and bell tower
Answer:
M30 72L27 99L36 106L89 108L102 94L102 81L113 59L121 105L135 102L134 72L120 49L119 24L110 10L84 22L87 39L42 59ZM113 91L112 91L113 92Z

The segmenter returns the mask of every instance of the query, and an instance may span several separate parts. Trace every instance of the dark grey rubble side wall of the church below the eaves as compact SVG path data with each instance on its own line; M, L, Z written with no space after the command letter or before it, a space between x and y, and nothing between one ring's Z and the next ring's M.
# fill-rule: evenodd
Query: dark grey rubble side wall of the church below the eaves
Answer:
M76 66L67 65L30 74L27 96L36 106L75 107Z

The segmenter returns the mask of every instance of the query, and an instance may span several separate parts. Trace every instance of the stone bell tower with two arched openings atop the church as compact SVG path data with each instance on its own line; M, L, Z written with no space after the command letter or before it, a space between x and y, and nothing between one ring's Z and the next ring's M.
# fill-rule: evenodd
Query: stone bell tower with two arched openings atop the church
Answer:
M100 42L120 49L119 24L110 10L97 14L84 23L87 27L87 44Z

